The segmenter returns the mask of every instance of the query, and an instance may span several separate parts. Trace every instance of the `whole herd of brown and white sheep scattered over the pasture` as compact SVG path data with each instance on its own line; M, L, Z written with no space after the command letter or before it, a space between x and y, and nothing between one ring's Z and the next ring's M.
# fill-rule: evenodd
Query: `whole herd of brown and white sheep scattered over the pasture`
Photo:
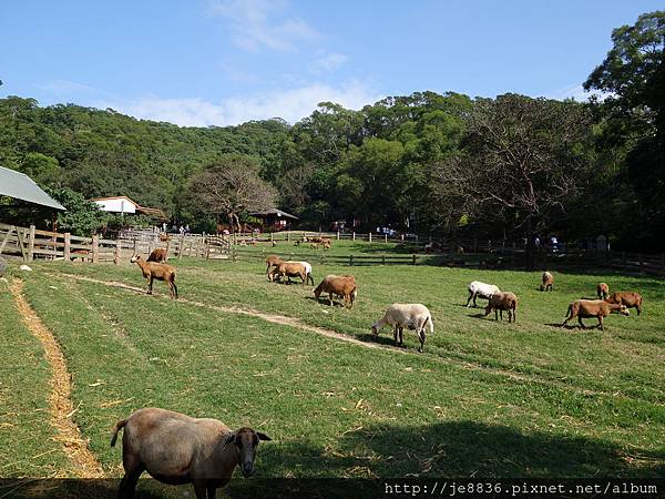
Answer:
M321 244L320 242L317 242ZM324 242L325 243L325 242ZM167 255L164 249L155 249L147 259L134 255L131 259L141 268L147 281L147 294L152 294L153 281L164 281L170 288L171 297L177 298L175 285L175 268L166 263ZM314 276L311 265L307 262L283 261L278 256L266 258L266 271L269 282L299 277L303 286L311 284ZM542 276L542 292L553 291L554 277L545 272ZM485 316L494 310L497 320L503 319L503 312L508 313L508 320L515 322L518 297L514 293L502 292L492 284L473 281L469 284L467 307L477 306L478 297L488 301ZM345 306L352 308L358 296L358 285L352 275L327 275L314 289L318 302L321 294L328 295L329 304L334 297L341 298ZM642 296L638 293L612 293L605 283L600 283L596 288L597 299L575 299L567 310L567 316L561 326L577 317L584 328L583 318L595 317L598 327L603 330L603 318L612 313L628 315L628 308L642 312ZM415 330L420 340L418 352L422 352L426 340L426 330L434 332L430 310L422 304L392 304L383 317L377 320L371 330L378 335L385 326L391 326L395 343L403 344L402 333L405 327ZM123 434L123 467L125 475L120 485L120 497L133 497L139 477L147 471L154 478L166 483L193 483L197 499L214 498L216 489L225 486L233 475L235 467L239 467L244 476L248 477L254 470L254 457L260 440L270 438L252 428L243 427L232 431L216 419L196 419L190 416L160 408L144 408L136 410L126 419L120 420L113 430L111 446L115 445L117 432Z

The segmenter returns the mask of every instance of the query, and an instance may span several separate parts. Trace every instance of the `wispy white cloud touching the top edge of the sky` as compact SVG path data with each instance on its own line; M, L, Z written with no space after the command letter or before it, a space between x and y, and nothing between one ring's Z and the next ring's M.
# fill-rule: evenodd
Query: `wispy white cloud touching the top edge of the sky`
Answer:
M289 51L299 42L318 38L303 19L277 20L287 7L284 0L217 0L211 3L212 12L227 20L234 44L250 51L260 48Z

